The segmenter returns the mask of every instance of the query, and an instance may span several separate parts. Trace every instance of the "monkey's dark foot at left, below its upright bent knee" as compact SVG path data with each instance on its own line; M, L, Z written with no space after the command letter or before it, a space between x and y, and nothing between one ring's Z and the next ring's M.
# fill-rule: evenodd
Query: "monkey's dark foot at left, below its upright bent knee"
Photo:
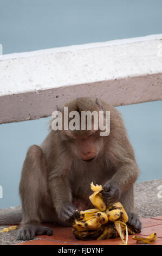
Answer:
M35 235L53 235L53 230L41 225L26 225L18 230L18 240L32 240Z

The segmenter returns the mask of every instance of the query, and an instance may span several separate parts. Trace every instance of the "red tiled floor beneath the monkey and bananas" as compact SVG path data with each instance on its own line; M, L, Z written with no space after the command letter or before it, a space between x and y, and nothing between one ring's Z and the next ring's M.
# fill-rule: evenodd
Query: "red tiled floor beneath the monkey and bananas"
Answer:
M161 216L154 217L151 219L148 218L140 218L142 222L142 230L139 236L147 236L152 233L158 234L158 239L153 245L162 245L162 220ZM47 236L36 236L36 238L40 238L38 240L33 241L25 241L23 243L17 243L17 245L120 245L122 243L120 237L116 239L107 239L107 240L90 240L90 241L82 241L75 239L72 228L71 227L61 227L58 225L46 223L43 225L48 225L53 229L53 235ZM132 240L130 235L128 237L128 245L135 245L136 241Z

